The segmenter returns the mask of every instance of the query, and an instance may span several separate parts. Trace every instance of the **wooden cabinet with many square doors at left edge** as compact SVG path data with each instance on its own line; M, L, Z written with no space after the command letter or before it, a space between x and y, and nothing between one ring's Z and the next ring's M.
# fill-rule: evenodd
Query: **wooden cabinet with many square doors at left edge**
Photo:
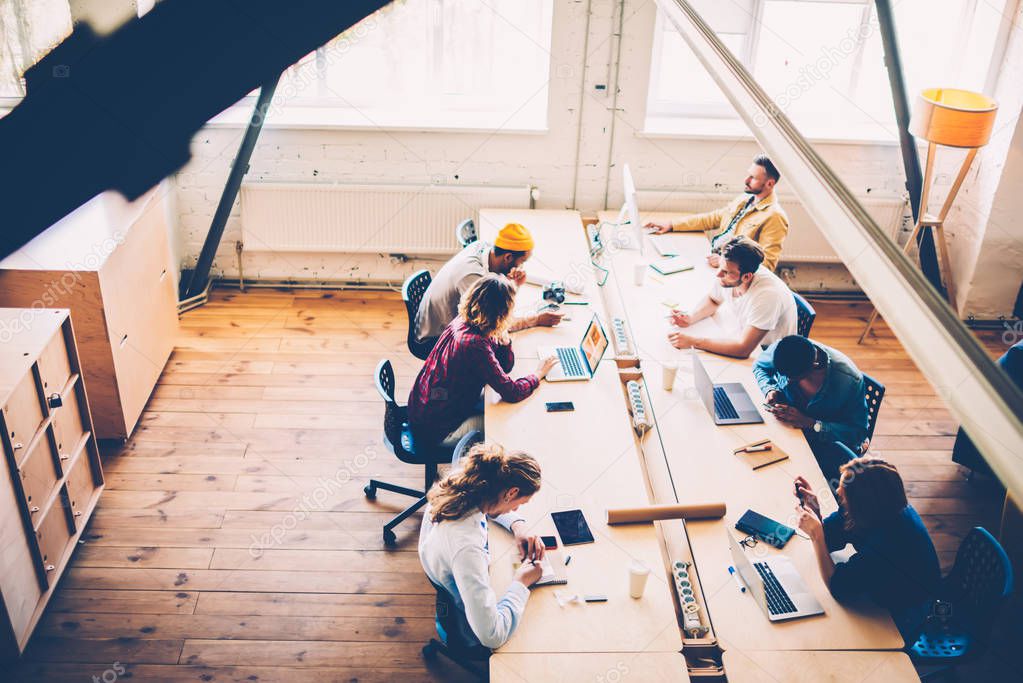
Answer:
M20 654L103 471L65 309L0 309L0 656Z

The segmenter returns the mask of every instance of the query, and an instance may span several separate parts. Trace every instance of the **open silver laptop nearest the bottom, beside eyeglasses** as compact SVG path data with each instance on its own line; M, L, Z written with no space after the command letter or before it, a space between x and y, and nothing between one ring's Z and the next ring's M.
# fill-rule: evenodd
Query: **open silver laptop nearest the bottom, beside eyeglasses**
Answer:
M803 583L795 565L785 555L751 562L731 532L728 549L736 572L771 622L825 613L824 607Z

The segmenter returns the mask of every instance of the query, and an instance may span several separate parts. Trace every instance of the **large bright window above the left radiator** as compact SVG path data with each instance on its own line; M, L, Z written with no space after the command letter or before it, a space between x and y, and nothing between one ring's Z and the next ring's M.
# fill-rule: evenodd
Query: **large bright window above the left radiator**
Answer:
M552 6L395 2L290 67L268 122L542 129Z

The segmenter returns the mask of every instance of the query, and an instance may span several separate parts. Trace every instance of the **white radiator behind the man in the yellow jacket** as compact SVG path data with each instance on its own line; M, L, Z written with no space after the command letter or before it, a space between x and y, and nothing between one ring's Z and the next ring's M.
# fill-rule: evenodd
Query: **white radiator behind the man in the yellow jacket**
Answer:
M735 196L735 194L714 192L636 191L640 211L702 213L720 209ZM779 195L779 200L789 216L789 234L782 247L782 263L841 263L842 260L821 234L802 202L791 194ZM899 196L859 197L859 203L892 240L898 241L902 214L907 206L905 199Z

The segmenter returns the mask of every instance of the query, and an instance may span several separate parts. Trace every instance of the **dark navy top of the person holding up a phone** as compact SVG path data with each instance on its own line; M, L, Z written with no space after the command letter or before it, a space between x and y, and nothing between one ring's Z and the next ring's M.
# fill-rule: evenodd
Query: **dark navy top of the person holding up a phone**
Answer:
M866 595L892 612L905 636L916 636L928 613L929 600L941 581L941 566L931 536L913 505L890 522L864 532L847 532L840 509L824 520L829 552L856 549L848 561L835 564L832 595L836 600Z

